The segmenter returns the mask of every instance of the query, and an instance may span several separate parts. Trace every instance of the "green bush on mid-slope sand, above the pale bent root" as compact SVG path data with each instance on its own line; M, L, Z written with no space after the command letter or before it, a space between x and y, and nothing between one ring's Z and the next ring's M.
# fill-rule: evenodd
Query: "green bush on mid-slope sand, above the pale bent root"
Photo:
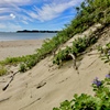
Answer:
M72 47L66 47L65 50L59 51L54 59L53 64L62 65L63 61L72 59L69 54L73 54L75 56L78 56L81 52L86 51L87 47L89 47L91 44L95 44L97 38L94 37L78 37L73 42Z

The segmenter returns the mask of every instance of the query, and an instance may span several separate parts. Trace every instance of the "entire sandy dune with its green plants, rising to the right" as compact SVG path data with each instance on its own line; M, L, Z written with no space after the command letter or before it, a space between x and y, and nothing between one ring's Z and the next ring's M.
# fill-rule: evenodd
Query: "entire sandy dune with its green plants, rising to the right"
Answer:
M0 75L19 65L9 84L0 86L2 110L110 110L110 0L85 0L76 10L75 19L36 54L0 62ZM72 99L74 94L81 95Z

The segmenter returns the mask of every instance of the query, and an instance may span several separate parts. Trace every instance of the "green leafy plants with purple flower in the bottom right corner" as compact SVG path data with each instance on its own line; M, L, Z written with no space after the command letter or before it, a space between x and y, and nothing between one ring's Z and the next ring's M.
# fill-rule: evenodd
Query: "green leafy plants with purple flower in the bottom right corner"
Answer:
M95 79L92 87L95 96L76 94L73 100L66 100L61 103L59 108L53 108L53 110L110 110L110 74L105 80Z

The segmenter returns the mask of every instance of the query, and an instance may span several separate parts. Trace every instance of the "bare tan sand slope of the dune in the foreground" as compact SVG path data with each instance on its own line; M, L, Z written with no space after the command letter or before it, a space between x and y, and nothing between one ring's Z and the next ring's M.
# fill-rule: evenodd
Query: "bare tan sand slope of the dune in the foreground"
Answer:
M96 45L110 41L109 32L102 34ZM48 56L33 69L16 74L6 91L2 88L11 75L0 77L0 110L52 110L59 102L72 99L74 94L94 95L92 80L103 79L110 70L110 65L100 59L96 45L80 61L79 74L73 68L73 62L58 69Z

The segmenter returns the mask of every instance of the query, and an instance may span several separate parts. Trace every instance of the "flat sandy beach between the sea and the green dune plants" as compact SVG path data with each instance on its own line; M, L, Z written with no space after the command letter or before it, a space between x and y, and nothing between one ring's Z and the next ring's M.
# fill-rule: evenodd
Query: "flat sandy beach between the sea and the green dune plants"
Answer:
M7 57L30 55L40 48L43 40L3 41L0 42L0 61Z

